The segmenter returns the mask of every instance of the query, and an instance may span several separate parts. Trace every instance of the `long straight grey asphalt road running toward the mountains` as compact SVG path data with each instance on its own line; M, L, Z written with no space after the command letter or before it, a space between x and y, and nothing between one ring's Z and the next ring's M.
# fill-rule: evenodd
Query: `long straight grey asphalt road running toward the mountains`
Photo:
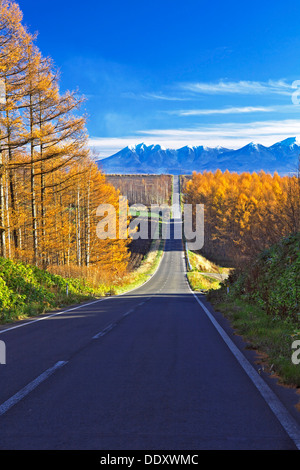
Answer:
M2 329L0 449L297 449L185 270L167 240L139 289Z

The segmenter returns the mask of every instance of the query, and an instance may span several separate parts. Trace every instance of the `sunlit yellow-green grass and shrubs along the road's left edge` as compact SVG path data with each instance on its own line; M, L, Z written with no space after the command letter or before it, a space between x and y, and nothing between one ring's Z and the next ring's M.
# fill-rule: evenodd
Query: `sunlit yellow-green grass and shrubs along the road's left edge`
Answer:
M49 272L32 265L0 258L0 324L12 323L68 305L106 295L118 295L144 284L156 271L164 240L153 240L138 269L118 279L97 275L76 266ZM64 276L58 274L58 272Z

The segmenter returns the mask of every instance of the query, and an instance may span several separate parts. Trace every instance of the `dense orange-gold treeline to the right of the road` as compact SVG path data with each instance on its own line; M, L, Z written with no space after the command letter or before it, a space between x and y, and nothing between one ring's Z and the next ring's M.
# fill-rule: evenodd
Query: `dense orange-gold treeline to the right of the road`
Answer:
M295 175L204 172L183 180L184 201L205 205L204 252L241 266L300 231L300 178Z

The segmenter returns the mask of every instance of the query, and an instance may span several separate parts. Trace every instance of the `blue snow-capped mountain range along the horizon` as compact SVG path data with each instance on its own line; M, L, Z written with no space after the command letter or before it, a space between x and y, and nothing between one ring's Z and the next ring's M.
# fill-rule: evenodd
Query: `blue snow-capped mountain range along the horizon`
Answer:
M111 157L99 160L97 164L108 174L189 175L193 171L220 169L238 173L277 171L284 175L296 172L299 155L300 140L296 137L270 147L251 142L237 150L188 145L174 150L142 143L126 147Z

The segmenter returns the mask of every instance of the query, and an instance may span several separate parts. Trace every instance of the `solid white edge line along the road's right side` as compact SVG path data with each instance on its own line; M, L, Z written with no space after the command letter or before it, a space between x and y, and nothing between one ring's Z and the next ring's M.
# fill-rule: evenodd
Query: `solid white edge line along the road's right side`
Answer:
M189 285L189 282L188 282ZM222 339L227 344L230 351L233 353L235 358L238 360L239 364L242 366L248 377L251 379L257 390L260 392L262 397L265 399L266 403L269 405L271 410L273 411L274 415L280 422L281 426L285 429L287 434L290 436L294 444L296 445L297 449L300 450L300 427L296 420L290 415L288 410L285 406L281 403L279 398L275 395L275 393L270 389L270 387L266 384L266 382L260 377L257 371L252 367L250 362L246 359L246 357L242 354L242 352L238 349L238 347L233 343L233 341L229 338L227 333L223 330L223 328L219 325L216 321L214 316L210 313L210 311L206 308L206 306L201 302L195 292L192 291L190 285L189 288L197 300L200 307L206 313L218 333L221 335Z

